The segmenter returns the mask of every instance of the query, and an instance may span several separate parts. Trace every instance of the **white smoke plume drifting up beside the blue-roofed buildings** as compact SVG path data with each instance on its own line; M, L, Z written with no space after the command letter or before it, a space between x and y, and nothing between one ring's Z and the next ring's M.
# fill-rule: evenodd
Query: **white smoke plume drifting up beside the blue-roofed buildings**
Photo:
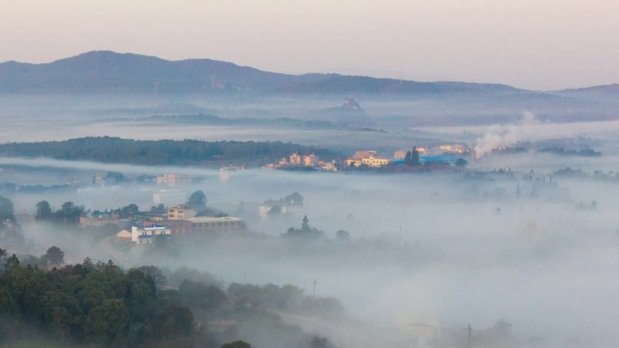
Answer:
M492 149L514 146L520 141L536 138L541 122L529 111L522 113L522 119L516 124L493 125L477 138L475 151L478 158L490 153Z

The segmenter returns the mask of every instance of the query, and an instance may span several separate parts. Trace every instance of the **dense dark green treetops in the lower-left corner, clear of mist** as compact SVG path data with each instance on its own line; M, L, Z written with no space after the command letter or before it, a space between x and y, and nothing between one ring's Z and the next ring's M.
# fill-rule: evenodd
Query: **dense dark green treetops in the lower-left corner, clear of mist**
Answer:
M153 277L142 270L85 259L45 271L22 266L14 255L1 256L3 344L36 332L69 345L173 347L196 334L194 316L180 305L176 291L157 291Z

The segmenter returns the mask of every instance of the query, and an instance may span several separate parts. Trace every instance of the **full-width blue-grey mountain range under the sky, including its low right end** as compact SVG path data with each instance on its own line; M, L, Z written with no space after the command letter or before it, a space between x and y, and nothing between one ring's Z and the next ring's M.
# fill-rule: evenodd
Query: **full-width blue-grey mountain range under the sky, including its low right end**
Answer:
M226 61L167 61L110 51L86 52L43 64L0 63L0 94L36 93L336 95L344 98L373 95L396 99L475 100L472 104L501 103L522 108L560 105L581 111L600 103L619 104L617 84L535 91L496 83L417 82L332 73L290 75Z

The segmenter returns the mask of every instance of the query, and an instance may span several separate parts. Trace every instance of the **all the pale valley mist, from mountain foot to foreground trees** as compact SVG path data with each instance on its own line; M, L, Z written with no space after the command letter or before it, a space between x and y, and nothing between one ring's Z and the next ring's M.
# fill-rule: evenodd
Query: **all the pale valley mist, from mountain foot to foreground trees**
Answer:
M47 98L33 99L40 110L50 107L52 116L68 112L60 124L43 115L22 118L28 116L28 108L9 103L3 109L2 119L9 121L0 131L1 140L278 138L340 151L376 148L385 154L398 148L460 141L478 146L479 161L452 174L252 169L231 172L220 181L218 171L198 166L3 157L0 194L14 203L22 223L26 247L20 251L41 255L55 245L69 262L90 257L114 259L125 268L144 264L168 270L190 267L210 273L223 288L233 283L290 284L303 289L304 296L332 296L342 304L346 319L312 320L285 311L279 315L306 331L329 336L342 347L424 346L426 339L431 346L465 346L469 328L472 346L607 347L619 339L614 327L619 313L614 300L619 291L614 277L619 261L619 123L557 124L533 110L538 118L527 114L514 124L455 127L468 123L454 121L454 127L437 127L446 123L415 123L417 118L427 120L424 112L435 104L397 100L367 104L359 100L379 127L386 126L384 131L147 126L142 119L122 122L119 127L120 122L110 121L136 114L151 116L158 102L151 97L139 101L147 110L139 112L132 109L137 108L132 99L121 100L115 112L110 112L105 100L94 97L76 104L72 111ZM246 117L244 107L233 101L220 101L216 108L230 108L224 117ZM302 115L340 102L304 100L302 105L290 105L289 99L279 101L279 111L271 118L294 116L286 115L287 108ZM254 114L263 114L259 101L245 102L246 108L255 108ZM211 108L205 100L195 103ZM386 104L394 108L385 108ZM181 107L170 108L161 114L180 114ZM87 117L84 110L91 111ZM490 111L485 110L484 117L493 120ZM520 112L503 110L497 118L517 119ZM33 128L27 119L35 119L42 127ZM599 155L561 155L558 149L563 144L576 144L566 150L573 153L592 146L590 150ZM493 152L510 146L524 150ZM557 151L538 151L544 148ZM95 175L106 172L124 174L127 180L92 183ZM195 181L180 187L152 182L152 176L169 173L190 174ZM150 179L138 180L142 175ZM209 208L242 218L247 231L212 240L186 236L176 240L173 252L158 253L119 248L113 236L120 228L97 234L33 221L36 204L43 200L54 211L72 202L90 212L135 203L145 212L157 205L153 195L161 189L187 195L201 190ZM295 192L304 198L301 212L260 216L262 202ZM303 229L305 216L312 237L291 237L290 229ZM430 340L428 331L420 334L422 326L437 330L443 340ZM507 341L492 341L493 334Z

